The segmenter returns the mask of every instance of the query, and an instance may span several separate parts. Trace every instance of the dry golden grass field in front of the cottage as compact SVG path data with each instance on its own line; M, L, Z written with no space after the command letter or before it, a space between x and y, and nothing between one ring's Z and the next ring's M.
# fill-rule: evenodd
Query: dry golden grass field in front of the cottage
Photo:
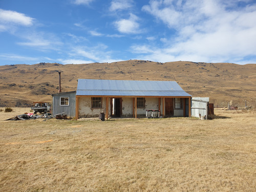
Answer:
M1 121L0 191L255 191L256 112L216 114Z

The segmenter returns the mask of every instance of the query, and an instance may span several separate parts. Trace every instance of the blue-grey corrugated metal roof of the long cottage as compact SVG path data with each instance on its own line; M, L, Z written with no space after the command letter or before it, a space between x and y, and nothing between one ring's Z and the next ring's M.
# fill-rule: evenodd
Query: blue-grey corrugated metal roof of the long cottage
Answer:
M191 96L175 81L78 79L76 95Z

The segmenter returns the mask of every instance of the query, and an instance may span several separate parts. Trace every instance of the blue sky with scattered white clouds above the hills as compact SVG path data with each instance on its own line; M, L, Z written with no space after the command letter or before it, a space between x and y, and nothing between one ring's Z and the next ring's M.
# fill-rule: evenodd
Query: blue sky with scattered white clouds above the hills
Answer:
M256 63L255 0L0 0L0 65Z

